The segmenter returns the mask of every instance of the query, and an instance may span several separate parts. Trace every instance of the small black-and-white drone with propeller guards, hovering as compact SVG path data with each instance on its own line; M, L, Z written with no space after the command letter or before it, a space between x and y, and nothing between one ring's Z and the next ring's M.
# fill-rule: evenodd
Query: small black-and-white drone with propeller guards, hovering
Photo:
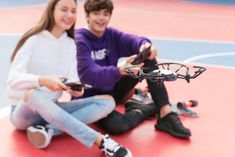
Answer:
M137 71L137 73L136 73ZM202 66L186 66L181 63L160 63L154 67L137 67L135 65L125 68L127 75L138 79L140 82L144 79L162 84L164 81L175 81L184 79L190 83L191 79L197 78L206 68Z

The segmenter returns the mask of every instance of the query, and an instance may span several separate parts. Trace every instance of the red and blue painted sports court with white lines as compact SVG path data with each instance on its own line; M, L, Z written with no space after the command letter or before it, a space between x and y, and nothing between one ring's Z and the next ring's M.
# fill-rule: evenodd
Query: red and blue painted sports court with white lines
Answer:
M20 35L39 20L46 2L0 0L0 156L102 157L97 148L90 150L66 134L38 150L8 120L9 57ZM78 2L76 27L84 27L83 0ZM114 5L111 26L151 38L160 61L201 65L207 71L189 84L166 82L173 103L199 101L193 109L199 118L181 117L192 131L189 140L155 131L155 120L112 137L131 149L134 157L235 156L235 1L114 0Z

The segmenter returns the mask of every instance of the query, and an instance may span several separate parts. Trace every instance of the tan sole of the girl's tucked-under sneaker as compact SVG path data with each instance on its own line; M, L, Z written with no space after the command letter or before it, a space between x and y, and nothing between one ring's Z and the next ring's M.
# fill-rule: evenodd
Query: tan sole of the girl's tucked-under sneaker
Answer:
M33 145L36 148L45 148L49 145L49 141L45 138L47 135L44 134L44 132L40 132L37 129L35 129L34 127L29 127L27 129L27 136L28 139L31 143L33 143Z

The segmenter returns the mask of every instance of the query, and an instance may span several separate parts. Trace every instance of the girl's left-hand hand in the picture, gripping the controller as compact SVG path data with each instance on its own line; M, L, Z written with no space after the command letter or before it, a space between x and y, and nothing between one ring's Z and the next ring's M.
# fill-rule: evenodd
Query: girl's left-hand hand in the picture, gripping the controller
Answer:
M41 76L39 77L39 85L41 87L47 87L54 92L69 89L58 77Z

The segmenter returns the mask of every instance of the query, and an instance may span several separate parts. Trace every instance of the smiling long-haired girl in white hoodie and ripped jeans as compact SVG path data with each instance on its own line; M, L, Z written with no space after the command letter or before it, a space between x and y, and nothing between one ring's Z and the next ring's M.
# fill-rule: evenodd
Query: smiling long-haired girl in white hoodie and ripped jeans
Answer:
M29 140L37 148L49 145L53 135L64 131L76 140L101 148L105 156L130 156L130 152L108 135L86 124L106 117L114 109L108 95L59 103L62 91L72 91L61 80L78 81L74 25L76 0L50 0L40 22L18 42L11 57L7 91L12 102L11 122L19 130L27 130ZM48 123L47 125L42 125ZM60 131L61 130L61 131Z

